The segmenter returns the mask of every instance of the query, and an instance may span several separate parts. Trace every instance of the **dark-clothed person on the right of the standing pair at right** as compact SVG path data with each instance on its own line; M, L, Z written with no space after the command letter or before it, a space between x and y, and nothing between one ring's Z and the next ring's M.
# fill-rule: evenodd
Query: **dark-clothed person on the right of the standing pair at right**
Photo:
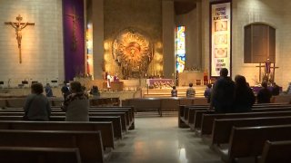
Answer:
M236 112L252 110L256 97L251 88L249 88L245 76L236 75L236 90L234 108Z

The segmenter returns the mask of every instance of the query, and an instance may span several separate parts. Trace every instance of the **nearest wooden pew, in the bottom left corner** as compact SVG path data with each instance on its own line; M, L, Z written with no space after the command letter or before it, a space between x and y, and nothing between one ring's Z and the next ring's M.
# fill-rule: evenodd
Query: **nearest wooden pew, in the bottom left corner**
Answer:
M3 163L81 163L79 149L0 147Z

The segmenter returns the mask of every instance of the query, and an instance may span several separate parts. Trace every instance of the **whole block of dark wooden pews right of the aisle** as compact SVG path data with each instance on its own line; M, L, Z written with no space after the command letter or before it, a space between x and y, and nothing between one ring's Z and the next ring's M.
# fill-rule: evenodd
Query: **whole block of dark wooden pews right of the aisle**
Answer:
M291 105L255 104L252 111L216 113L179 106L178 127L190 128L225 162L290 162Z

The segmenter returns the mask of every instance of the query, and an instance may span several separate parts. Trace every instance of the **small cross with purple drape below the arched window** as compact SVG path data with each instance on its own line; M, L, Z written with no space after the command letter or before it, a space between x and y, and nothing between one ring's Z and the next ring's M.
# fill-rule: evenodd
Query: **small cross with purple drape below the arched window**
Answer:
M272 63L273 63L273 66L272 66ZM266 80L266 82L271 82L271 83L275 82L275 70L279 68L279 67L276 67L275 62L270 62L269 59L267 59L266 62L260 62L259 65L256 67L259 68L259 82L264 82L264 80ZM265 70L265 73L263 75L263 81L262 81L262 70L261 70L262 68ZM273 70L273 72L271 72L271 70Z

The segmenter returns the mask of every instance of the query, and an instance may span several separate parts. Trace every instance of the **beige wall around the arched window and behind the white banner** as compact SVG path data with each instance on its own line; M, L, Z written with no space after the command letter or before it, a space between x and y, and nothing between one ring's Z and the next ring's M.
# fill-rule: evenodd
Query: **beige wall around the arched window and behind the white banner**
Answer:
M233 0L232 70L246 76L251 85L258 80L257 64L244 63L244 26L252 23L270 24L276 28L276 83L286 89L291 82L291 3L288 0ZM202 1L202 44L204 68L209 67L209 1Z

